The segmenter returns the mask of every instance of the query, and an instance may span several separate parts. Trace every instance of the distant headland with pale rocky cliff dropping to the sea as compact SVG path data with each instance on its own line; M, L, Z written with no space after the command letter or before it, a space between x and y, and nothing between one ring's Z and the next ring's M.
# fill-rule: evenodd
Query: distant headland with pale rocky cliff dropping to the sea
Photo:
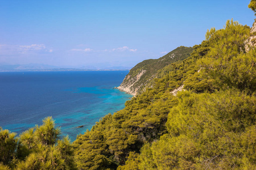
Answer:
M155 78L159 78L158 71L171 63L188 58L193 48L180 46L159 59L147 59L130 70L122 84L117 87L129 94L140 94L146 87L152 86Z

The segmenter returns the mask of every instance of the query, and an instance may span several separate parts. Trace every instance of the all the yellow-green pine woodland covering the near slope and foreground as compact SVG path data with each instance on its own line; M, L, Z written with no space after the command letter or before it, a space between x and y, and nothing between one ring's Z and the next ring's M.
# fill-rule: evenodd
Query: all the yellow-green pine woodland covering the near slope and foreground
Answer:
M190 57L158 70L152 87L72 145L51 118L16 138L1 129L0 169L256 169L250 35L233 20L210 29Z

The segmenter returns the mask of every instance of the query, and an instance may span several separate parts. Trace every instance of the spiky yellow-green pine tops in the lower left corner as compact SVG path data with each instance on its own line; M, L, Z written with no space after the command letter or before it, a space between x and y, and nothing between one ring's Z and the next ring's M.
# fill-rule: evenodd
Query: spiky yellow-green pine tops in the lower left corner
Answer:
M59 139L60 129L51 117L43 125L19 137L0 128L0 169L77 169L68 137Z

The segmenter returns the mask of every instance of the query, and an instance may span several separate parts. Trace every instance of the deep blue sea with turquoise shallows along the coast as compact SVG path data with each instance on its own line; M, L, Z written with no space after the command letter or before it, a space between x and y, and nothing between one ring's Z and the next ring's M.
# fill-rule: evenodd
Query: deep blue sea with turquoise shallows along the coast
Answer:
M129 71L0 72L0 126L22 133L52 116L71 141L131 95L119 86ZM76 128L83 125L83 128Z

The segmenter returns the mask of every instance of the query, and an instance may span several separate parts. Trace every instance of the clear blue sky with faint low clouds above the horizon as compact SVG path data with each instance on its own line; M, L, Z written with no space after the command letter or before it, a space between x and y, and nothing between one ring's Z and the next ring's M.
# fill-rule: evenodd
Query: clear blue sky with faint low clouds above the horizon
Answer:
M133 67L205 39L226 20L253 25L250 0L0 0L0 64Z

